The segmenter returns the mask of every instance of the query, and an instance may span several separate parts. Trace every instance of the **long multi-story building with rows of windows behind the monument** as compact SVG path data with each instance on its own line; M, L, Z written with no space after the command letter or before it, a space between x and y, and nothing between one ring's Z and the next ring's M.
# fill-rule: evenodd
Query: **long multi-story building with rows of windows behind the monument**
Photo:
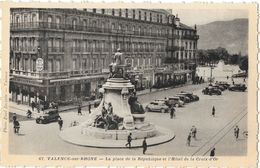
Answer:
M11 9L11 98L30 102L90 97L108 77L117 48L131 64L129 73L137 86L166 81L169 74L160 74L169 71L165 59L177 56L176 30L186 30L176 23L166 10ZM186 60L196 56L196 48L191 52ZM38 58L44 61L42 71L37 71Z

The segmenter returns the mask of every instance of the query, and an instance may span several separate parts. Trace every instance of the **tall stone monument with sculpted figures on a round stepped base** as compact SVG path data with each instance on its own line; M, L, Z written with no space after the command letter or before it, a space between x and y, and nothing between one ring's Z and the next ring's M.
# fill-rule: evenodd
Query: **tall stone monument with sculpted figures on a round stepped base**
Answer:
M129 133L141 146L143 138L156 145L174 138L172 131L145 120L145 110L139 103L134 85L127 78L128 65L124 64L120 49L110 64L110 76L100 88L103 94L100 105L89 119L79 126L61 131L60 137L70 143L91 147L124 147ZM116 143L112 143L116 141ZM98 142L98 143L97 143Z

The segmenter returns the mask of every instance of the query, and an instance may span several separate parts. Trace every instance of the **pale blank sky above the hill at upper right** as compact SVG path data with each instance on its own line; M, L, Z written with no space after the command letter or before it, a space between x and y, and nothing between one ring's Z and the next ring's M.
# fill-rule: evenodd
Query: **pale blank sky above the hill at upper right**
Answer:
M214 21L233 20L237 18L248 18L247 10L231 10L231 9L173 9L172 13L181 19L181 22L194 26L195 24L207 24Z

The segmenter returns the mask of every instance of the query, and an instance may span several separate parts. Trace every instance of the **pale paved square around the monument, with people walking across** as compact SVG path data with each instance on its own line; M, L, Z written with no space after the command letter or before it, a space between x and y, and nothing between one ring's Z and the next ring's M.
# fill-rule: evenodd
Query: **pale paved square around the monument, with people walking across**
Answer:
M148 147L147 155L209 155L212 147L216 148L217 156L247 154L247 139L242 135L247 130L247 92L224 91L221 96L202 95L206 84L188 85L180 88L162 90L139 96L139 101L145 106L154 99L173 96L185 90L192 91L200 97L198 102L176 108L176 118L170 119L169 113L147 112L146 120L172 130L175 138L167 143ZM216 116L211 116L212 106L216 108ZM89 117L87 108L83 115L77 115L77 110L60 113L64 120L63 129L71 122L79 123ZM17 112L11 108L10 112ZM20 111L22 113L22 110ZM51 154L51 155L142 155L141 148L133 149L103 149L73 145L64 142L59 137L58 123L36 124L35 120L21 121L20 135L15 135L10 122L10 153L11 154ZM191 146L186 140L192 126L196 126L197 139L191 140ZM240 137L235 140L234 126L240 128ZM149 139L147 139L149 145Z

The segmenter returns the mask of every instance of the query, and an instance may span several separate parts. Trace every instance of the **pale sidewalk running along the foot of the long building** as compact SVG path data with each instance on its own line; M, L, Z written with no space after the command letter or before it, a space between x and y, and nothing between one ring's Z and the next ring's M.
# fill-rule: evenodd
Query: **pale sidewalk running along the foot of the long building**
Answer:
M183 85L178 85L178 86L175 86L175 87L168 87L168 88L160 88L160 89L152 89L151 92L150 92L150 89L145 89L145 90L141 90L141 91L138 91L137 92L137 95L140 96L140 95L145 95L145 94L149 94L149 93L155 93L155 92L160 92L162 90L168 90L168 89L173 89L173 88L180 88L180 87L184 87L184 86L187 86L187 85L192 85L192 83L186 83L186 84L183 84ZM89 104L91 104L91 107L93 107L94 103L96 102L97 100L93 100L93 101L83 101L82 102L82 105L81 107L82 108L88 108ZM17 104L16 102L12 102L12 101L9 101L9 107L10 109L13 109L13 112L19 114L19 115L23 115L23 116L26 116L26 112L30 109L32 111L32 108L31 106L28 106L28 105L24 105L24 104ZM66 111L69 111L69 110L74 110L74 109L77 109L78 106L77 105L66 105L66 106L59 106L59 112L66 112ZM33 112L33 111L32 111ZM39 114L41 114L42 112L38 113L37 112L37 109L35 108L34 109L34 112L32 114L32 116L38 116Z

